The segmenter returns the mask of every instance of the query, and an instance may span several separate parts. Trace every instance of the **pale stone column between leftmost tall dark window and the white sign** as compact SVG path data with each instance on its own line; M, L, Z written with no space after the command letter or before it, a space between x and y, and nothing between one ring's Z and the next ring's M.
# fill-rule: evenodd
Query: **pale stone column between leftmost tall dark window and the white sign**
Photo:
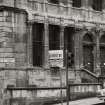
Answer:
M44 68L49 68L49 24L48 22L44 23Z

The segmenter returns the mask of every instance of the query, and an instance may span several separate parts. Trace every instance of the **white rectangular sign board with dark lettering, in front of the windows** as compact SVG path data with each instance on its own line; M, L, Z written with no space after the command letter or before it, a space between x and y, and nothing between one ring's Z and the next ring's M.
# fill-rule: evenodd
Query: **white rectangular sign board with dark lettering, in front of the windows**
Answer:
M63 67L63 50L49 51L50 67Z

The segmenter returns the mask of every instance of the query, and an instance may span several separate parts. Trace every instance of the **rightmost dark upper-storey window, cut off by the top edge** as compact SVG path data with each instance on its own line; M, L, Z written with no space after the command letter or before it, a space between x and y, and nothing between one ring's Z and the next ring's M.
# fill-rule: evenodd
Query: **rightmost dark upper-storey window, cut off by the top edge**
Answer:
M103 0L93 0L92 8L96 11L102 11Z

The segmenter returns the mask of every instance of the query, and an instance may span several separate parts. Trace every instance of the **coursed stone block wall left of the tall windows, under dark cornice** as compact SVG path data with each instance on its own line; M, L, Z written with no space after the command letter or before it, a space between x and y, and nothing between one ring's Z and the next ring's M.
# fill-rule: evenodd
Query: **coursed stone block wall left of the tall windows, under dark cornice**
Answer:
M26 64L25 16L5 9L0 12L0 67Z

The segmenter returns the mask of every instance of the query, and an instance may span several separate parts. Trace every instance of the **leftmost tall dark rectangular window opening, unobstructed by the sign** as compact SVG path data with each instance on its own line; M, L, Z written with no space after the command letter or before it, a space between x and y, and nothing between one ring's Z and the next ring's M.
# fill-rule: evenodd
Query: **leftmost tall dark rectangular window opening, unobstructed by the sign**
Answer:
M44 25L41 23L34 23L32 27L33 38L33 66L43 65L43 31Z

